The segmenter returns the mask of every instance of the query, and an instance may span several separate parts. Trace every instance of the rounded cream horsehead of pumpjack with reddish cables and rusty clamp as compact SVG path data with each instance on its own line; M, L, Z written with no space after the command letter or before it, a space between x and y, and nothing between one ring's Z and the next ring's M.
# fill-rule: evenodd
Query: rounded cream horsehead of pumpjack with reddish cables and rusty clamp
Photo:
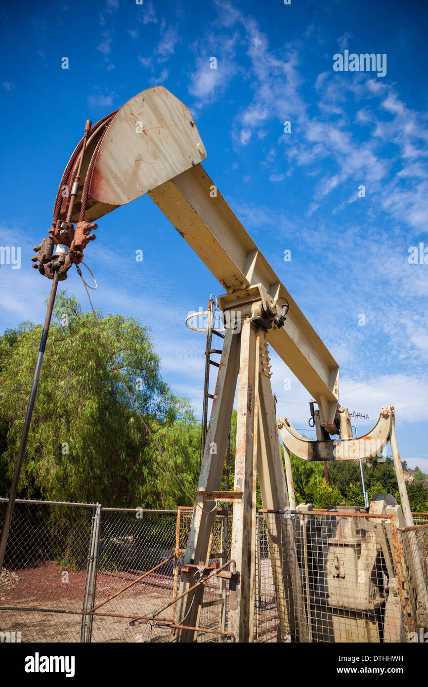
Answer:
M82 262L95 239L93 220L206 157L190 110L161 86L135 95L85 135L60 181L49 236L34 247L33 267L51 280L55 273L67 279L71 265Z

